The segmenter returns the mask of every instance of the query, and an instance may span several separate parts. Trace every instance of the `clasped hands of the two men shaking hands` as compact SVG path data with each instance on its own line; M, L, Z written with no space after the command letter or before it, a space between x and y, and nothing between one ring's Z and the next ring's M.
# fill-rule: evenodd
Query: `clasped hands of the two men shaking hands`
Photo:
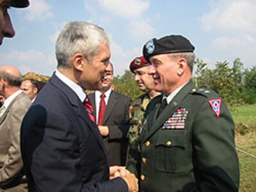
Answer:
M130 173L124 166L110 166L109 168L110 179L121 177L124 179L128 186L128 192L139 191L138 179L133 173Z

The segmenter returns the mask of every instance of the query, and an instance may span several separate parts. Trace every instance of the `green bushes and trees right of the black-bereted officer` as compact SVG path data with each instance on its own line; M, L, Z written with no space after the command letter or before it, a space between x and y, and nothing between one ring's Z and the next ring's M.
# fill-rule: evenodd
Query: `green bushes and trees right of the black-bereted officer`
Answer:
M256 102L256 67L244 70L244 65L236 58L233 66L230 63L217 62L214 69L207 63L196 60L194 82L199 87L206 87L219 93L233 107L242 103ZM254 82L253 82L254 81Z

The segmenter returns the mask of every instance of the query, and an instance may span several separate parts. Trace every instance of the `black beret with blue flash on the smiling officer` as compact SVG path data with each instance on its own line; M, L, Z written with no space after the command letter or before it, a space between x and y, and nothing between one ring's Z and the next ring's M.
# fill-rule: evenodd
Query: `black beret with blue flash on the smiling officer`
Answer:
M143 47L143 56L149 61L151 56L157 54L193 52L194 46L181 35L169 35L160 39L153 38L146 42Z

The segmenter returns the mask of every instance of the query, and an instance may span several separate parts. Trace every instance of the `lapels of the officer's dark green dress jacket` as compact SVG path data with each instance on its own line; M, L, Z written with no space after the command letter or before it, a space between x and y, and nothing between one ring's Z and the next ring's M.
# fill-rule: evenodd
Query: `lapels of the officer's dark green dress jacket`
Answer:
M194 88L194 83L192 83L192 80L187 83L180 92L175 95L173 100L166 106L166 108L162 111L162 113L156 118L157 110L160 106L160 101L157 104L155 110L153 113L151 113L148 117L145 124L145 131L141 135L141 141L146 141L152 134L154 134L158 129L162 127L164 122L175 113L175 111L180 108L180 104L182 103L182 100L187 96L189 92L191 92L192 88Z

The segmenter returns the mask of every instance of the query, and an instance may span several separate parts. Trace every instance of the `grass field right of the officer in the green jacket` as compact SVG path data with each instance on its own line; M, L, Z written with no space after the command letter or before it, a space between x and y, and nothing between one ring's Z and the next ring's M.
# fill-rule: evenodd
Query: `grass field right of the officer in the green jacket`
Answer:
M237 148L256 156L256 105L241 106L232 112L232 116L238 130L235 134ZM256 191L256 159L239 151L237 153L241 174L239 191Z

